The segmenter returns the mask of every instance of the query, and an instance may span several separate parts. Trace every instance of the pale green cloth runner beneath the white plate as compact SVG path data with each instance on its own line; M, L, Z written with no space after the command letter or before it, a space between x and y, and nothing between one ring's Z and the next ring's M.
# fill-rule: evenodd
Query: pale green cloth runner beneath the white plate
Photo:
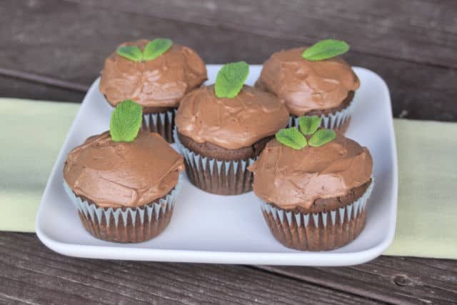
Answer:
M0 99L0 231L34 231L79 104ZM457 124L395 120L398 218L384 254L457 259Z

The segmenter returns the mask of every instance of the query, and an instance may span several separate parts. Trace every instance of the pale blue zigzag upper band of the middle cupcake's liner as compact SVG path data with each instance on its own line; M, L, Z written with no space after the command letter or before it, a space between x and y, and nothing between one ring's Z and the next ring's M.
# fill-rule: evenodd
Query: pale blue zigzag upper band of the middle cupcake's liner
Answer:
M178 145L179 151L186 159L187 163L191 166L195 167L199 170L199 166L203 167L203 171L206 171L206 167L209 166L209 170L211 173L214 173L214 164L216 164L217 174L225 174L229 176L229 170L233 170L233 173L236 174L238 171L238 167L241 167L241 171L246 171L246 167L253 164L256 159L248 159L248 160L232 160L232 161L221 161L217 159L211 159L207 156L201 156L200 154L196 154L194 151L191 151L186 146L181 144L178 138L178 131L176 127L173 131L174 142ZM222 171L222 165L224 164L224 172Z

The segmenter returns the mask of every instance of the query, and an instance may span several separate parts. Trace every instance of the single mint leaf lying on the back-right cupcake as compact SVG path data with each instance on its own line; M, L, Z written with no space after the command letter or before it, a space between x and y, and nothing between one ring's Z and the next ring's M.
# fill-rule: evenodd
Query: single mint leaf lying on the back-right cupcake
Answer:
M330 59L349 51L349 45L346 42L335 39L321 40L307 48L301 56L308 61L320 61Z

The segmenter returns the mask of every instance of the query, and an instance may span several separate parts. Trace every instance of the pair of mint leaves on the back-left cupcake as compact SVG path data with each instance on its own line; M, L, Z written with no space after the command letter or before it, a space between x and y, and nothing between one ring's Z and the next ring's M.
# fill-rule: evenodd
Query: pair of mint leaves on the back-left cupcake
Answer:
M143 51L139 46L119 46L116 53L131 61L151 61L168 51L172 44L170 39L158 38L149 41Z

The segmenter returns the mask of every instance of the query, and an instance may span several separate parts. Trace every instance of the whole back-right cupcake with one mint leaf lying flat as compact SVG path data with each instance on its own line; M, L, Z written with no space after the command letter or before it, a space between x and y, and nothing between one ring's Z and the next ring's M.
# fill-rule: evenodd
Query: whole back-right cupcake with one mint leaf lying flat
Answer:
M328 39L309 48L273 53L263 63L256 86L286 104L291 113L289 126L296 126L299 116L320 116L323 128L345 132L360 86L351 66L336 56L348 48L343 41Z

